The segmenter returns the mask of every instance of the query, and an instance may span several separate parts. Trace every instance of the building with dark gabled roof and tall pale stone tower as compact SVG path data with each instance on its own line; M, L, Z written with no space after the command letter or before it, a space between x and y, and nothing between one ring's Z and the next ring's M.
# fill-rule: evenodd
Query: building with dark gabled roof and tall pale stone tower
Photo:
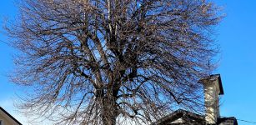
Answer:
M219 74L201 79L204 90L205 114L199 115L179 109L168 114L154 125L238 125L235 117L221 117L219 115L219 95L223 95L223 86Z

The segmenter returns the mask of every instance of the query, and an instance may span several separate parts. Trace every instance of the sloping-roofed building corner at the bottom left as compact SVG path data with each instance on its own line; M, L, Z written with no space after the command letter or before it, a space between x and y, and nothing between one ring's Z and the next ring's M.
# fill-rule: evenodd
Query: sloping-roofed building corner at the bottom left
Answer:
M0 125L23 125L18 122L12 115L0 107Z

